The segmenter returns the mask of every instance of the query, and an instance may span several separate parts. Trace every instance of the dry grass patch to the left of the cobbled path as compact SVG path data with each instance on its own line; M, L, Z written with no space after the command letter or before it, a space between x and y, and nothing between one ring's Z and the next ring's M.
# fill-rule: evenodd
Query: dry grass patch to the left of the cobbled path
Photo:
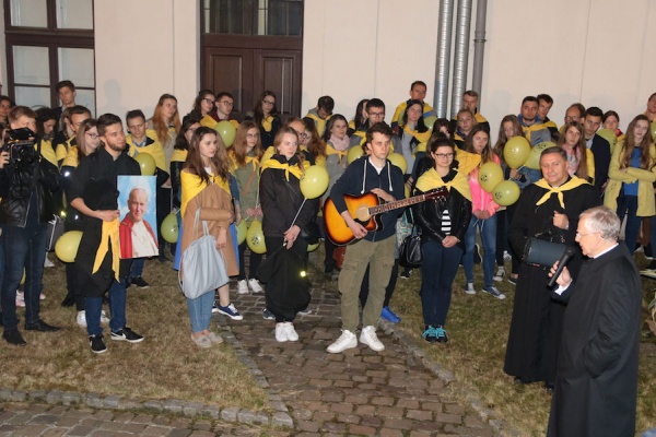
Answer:
M266 393L230 345L201 350L192 344L187 304L169 262L148 261L144 277L151 287L128 290L128 324L145 340L137 344L112 341L108 327L104 327L107 352L101 355L91 352L86 330L75 323L74 307L60 306L66 275L63 264L56 264L44 273L47 298L42 300L42 317L63 329L56 333L23 331L25 315L20 308L20 329L27 346L0 342L2 387L265 408ZM211 327L216 331L214 320Z

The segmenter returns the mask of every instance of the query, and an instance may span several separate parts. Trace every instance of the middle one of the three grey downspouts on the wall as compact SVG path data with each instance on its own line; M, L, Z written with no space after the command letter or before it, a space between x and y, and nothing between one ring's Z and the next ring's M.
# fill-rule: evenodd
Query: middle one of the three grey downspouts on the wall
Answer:
M467 63L469 61L469 31L471 23L471 1L458 0L456 19L456 47L454 56L454 83L452 86L452 118L462 106L462 94L467 86Z

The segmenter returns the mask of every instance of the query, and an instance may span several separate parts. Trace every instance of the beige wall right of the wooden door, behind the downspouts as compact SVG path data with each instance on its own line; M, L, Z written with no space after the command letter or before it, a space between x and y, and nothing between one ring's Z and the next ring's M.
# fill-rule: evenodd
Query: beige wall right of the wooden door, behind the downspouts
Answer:
M330 94L336 111L351 118L361 98L376 96L389 121L415 79L429 83L432 104L437 17L437 2L427 0L306 0L303 110ZM616 109L625 127L656 92L654 22L651 0L630 8L616 0L489 1L480 106L493 140L503 116L538 93L552 95L550 116L559 123L571 103L582 102ZM472 19L468 87L475 25Z

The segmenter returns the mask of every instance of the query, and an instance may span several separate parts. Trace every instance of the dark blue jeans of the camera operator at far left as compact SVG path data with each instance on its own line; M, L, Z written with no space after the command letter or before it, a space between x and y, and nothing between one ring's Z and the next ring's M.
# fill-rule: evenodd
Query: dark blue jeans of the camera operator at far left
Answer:
M3 225L4 277L2 279L2 324L5 331L17 329L16 290L25 270L25 322L39 320L39 295L46 259L47 224L17 227Z

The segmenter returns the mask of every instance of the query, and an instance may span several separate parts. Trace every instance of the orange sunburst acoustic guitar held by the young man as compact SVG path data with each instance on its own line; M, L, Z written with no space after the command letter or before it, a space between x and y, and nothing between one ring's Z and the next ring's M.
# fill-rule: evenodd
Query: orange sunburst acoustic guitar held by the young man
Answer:
M362 196L344 196L347 210L355 222L360 223L367 232L375 232L383 228L379 214L399 208L410 206L415 203L425 202L432 199L446 199L448 190L444 187L424 192L412 198L397 200L394 202L382 203L382 200L373 192ZM351 228L337 211L332 199L328 198L324 204L324 222L328 237L335 245L344 246L355 239Z

